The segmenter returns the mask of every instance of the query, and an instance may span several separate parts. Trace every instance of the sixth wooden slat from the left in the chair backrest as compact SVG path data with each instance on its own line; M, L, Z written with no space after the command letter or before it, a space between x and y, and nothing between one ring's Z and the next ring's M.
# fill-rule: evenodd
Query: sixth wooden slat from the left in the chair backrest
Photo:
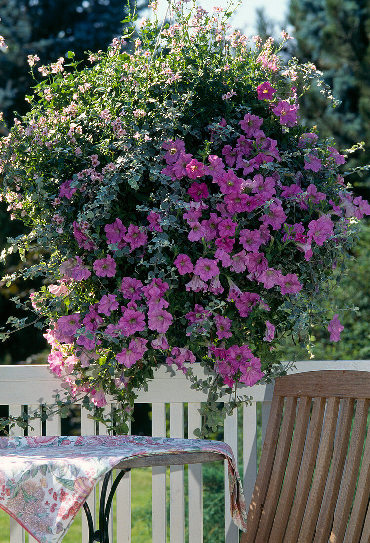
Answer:
M342 402L339 424L335 437L333 458L331 460L328 481L317 521L314 543L327 543L329 539L330 528L333 523L335 506L342 481L343 468L345 467L347 457L354 405L355 401L353 398L345 398Z

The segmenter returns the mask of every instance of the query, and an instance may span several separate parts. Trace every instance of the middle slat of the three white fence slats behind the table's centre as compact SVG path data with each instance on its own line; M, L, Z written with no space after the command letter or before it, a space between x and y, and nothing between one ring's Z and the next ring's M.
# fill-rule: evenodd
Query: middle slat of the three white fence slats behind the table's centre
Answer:
M170 437L184 436L183 404L170 404ZM184 543L184 466L170 466L170 541Z

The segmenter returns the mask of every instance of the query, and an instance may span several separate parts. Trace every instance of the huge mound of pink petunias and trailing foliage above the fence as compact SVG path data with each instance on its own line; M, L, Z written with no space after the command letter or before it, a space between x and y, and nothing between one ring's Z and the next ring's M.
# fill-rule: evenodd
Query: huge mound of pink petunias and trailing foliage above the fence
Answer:
M321 323L339 340L320 300L370 214L339 173L346 157L299 124L320 74L283 62L290 36L248 40L229 12L181 2L160 28L152 8L88 66L69 52L37 73L30 58L44 79L1 141L3 198L29 226L10 250L47 254L21 271L44 277L24 306L65 401L113 396L118 432L158 364L215 401L286 371L286 336L309 345Z

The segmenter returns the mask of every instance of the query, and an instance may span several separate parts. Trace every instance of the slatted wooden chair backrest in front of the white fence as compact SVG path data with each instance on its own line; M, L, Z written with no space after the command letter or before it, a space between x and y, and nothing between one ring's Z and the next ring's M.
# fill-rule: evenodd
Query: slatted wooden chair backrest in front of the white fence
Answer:
M370 372L278 377L240 543L370 541Z

